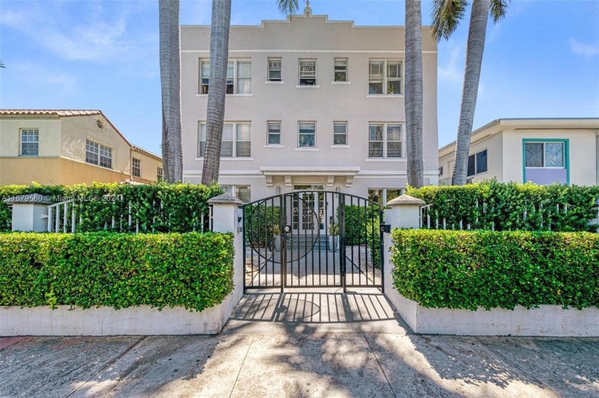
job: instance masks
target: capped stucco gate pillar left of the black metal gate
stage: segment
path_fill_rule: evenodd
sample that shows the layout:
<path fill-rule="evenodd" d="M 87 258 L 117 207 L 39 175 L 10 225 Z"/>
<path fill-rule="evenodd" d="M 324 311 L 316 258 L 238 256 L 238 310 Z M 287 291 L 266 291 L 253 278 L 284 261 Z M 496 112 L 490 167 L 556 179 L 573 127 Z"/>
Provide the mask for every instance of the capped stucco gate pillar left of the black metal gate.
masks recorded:
<path fill-rule="evenodd" d="M 230 232 L 233 234 L 235 256 L 233 257 L 233 307 L 243 295 L 243 278 L 245 278 L 245 264 L 243 263 L 243 229 L 240 219 L 240 205 L 242 201 L 230 194 L 222 194 L 208 199 L 208 204 L 213 206 L 213 231 Z M 231 308 L 232 310 L 232 308 Z"/>

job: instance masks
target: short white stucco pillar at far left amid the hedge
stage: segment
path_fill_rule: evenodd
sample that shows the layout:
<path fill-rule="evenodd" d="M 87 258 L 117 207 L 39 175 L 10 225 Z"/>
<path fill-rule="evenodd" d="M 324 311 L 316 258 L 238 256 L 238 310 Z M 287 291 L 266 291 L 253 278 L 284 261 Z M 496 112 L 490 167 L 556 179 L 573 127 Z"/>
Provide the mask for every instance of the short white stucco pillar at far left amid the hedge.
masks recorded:
<path fill-rule="evenodd" d="M 50 197 L 42 194 L 19 195 L 4 200 L 12 205 L 12 230 L 43 232 L 48 230 L 48 205 Z"/>

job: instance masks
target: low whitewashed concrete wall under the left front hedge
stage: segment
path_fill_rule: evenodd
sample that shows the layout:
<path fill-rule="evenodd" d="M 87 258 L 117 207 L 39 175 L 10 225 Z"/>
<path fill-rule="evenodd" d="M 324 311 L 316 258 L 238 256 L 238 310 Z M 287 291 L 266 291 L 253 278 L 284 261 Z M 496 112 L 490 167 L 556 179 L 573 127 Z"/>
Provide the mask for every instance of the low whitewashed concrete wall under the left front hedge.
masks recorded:
<path fill-rule="evenodd" d="M 241 289 L 239 289 L 241 290 Z M 239 298 L 235 293 L 213 308 L 190 312 L 182 307 L 0 308 L 1 336 L 214 335 L 227 322 Z"/>

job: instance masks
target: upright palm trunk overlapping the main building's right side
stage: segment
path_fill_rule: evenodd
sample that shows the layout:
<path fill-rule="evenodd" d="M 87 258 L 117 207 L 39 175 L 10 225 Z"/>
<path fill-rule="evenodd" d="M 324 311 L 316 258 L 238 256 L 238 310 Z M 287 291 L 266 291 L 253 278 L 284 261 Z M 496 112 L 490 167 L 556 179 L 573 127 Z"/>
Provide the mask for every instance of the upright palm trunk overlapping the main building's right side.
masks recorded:
<path fill-rule="evenodd" d="M 422 152 L 422 15 L 420 0 L 406 0 L 406 150 L 408 184 L 424 185 Z"/>

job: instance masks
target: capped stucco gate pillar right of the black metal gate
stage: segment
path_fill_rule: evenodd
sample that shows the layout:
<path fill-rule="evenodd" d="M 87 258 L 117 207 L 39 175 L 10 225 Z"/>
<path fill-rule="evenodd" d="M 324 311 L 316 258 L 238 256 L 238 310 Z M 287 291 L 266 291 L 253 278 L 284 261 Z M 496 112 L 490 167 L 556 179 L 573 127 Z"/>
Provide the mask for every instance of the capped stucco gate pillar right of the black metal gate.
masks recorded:
<path fill-rule="evenodd" d="M 420 209 L 426 203 L 418 198 L 411 197 L 409 195 L 401 195 L 395 199 L 388 201 L 386 206 L 390 209 L 385 210 L 385 224 L 391 226 L 391 230 L 396 228 L 412 228 L 419 229 L 421 226 L 420 222 Z M 397 290 L 393 287 L 393 278 L 391 278 L 391 272 L 393 271 L 393 263 L 391 263 L 391 236 L 389 233 L 384 233 L 384 293 L 389 301 L 395 306 L 397 310 L 400 310 L 399 305 L 401 302 L 401 296 L 397 293 Z"/>

